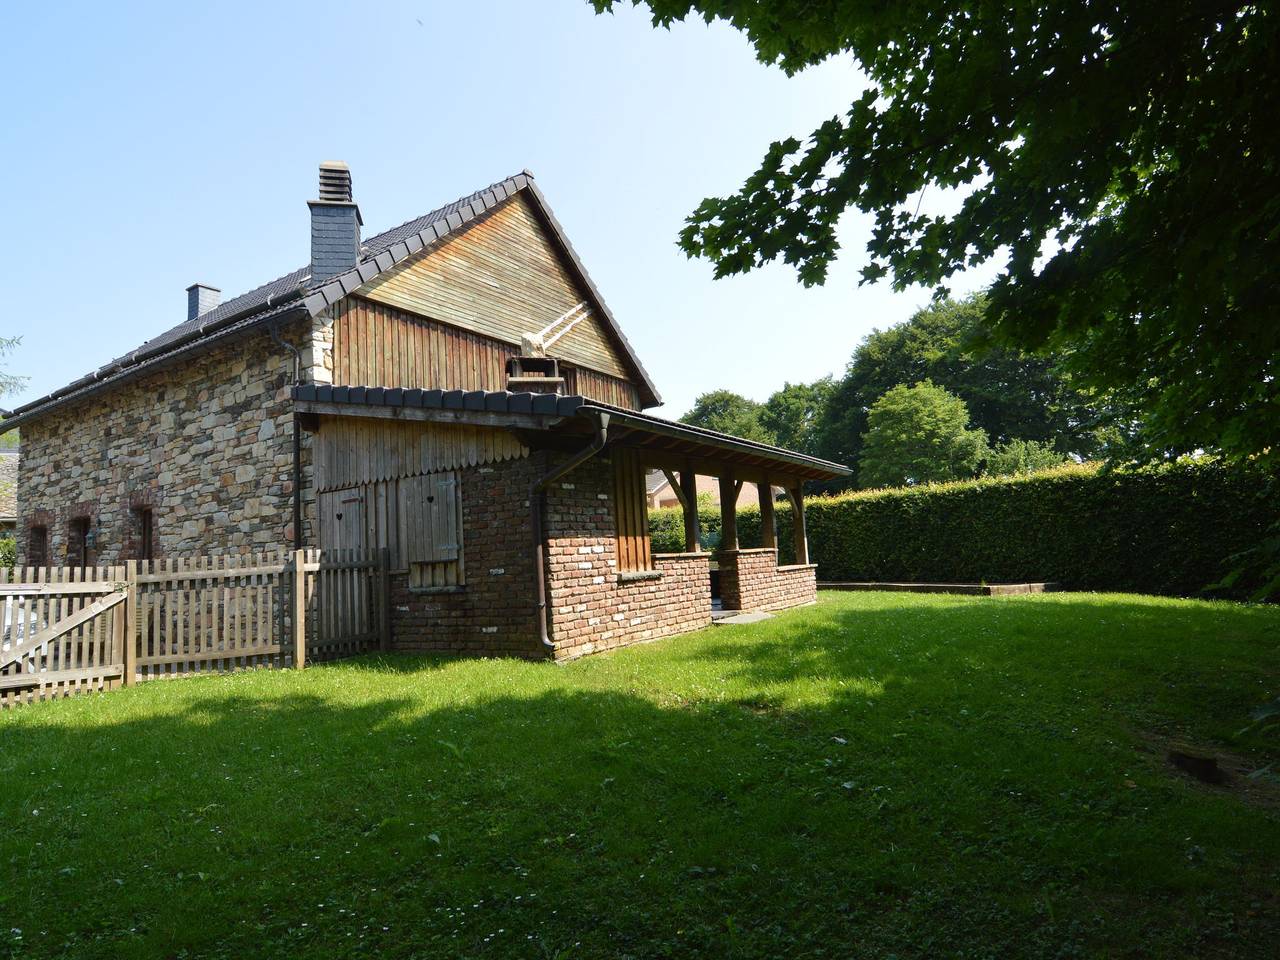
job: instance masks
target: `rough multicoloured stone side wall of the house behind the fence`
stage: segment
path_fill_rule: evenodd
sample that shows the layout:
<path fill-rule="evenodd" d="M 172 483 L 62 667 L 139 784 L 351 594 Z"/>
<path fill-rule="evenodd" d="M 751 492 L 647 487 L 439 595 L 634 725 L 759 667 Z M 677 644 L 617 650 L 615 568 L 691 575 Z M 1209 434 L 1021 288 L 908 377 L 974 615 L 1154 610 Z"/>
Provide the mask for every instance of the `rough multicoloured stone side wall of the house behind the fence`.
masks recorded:
<path fill-rule="evenodd" d="M 307 346 L 310 321 L 283 333 Z M 292 548 L 292 380 L 293 355 L 253 333 L 23 425 L 19 557 L 42 524 L 49 562 L 67 562 L 86 517 L 91 563 L 138 557 L 142 509 L 155 557 Z M 302 458 L 308 477 L 306 434 Z M 305 488 L 308 543 L 312 516 Z"/>

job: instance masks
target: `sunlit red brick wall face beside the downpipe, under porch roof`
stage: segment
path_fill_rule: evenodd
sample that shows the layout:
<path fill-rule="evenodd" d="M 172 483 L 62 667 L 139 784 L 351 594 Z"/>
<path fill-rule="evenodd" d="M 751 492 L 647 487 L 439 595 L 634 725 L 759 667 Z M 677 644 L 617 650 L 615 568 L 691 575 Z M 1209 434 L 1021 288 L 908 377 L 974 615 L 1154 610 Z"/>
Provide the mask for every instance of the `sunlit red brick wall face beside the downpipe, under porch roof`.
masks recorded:
<path fill-rule="evenodd" d="M 653 571 L 620 573 L 616 531 L 605 457 L 588 461 L 548 492 L 548 607 L 557 659 L 710 623 L 708 554 L 658 554 Z"/>

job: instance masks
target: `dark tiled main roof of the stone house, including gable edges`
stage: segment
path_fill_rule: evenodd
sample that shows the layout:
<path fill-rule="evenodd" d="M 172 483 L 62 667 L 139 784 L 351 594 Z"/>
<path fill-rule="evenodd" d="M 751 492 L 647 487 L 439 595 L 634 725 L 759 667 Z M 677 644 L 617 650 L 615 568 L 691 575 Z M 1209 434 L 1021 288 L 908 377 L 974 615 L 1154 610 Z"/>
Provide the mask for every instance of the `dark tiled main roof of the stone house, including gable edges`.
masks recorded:
<path fill-rule="evenodd" d="M 109 385 L 150 371 L 179 356 L 206 348 L 225 335 L 257 326 L 270 320 L 280 320 L 287 314 L 302 312 L 303 310 L 311 316 L 316 316 L 320 311 L 337 303 L 344 296 L 355 292 L 379 274 L 390 270 L 396 264 L 413 256 L 424 247 L 461 232 L 476 218 L 521 191 L 532 201 L 534 207 L 547 223 L 553 241 L 559 246 L 564 259 L 577 274 L 577 279 L 595 302 L 605 330 L 614 338 L 623 358 L 636 374 L 641 398 L 648 401 L 645 406 L 660 403 L 662 398 L 658 394 L 657 387 L 636 356 L 635 349 L 622 334 L 622 329 L 605 305 L 600 292 L 588 275 L 586 268 L 564 236 L 564 230 L 548 206 L 543 192 L 534 183 L 534 175 L 529 170 L 524 170 L 504 180 L 460 197 L 452 204 L 445 204 L 429 214 L 407 220 L 399 227 L 393 227 L 389 230 L 365 239 L 361 243 L 361 260 L 356 264 L 356 268 L 340 276 L 332 278 L 324 284 L 312 284 L 310 282 L 310 268 L 302 266 L 248 293 L 242 293 L 224 303 L 219 303 L 195 320 L 178 324 L 159 337 L 151 338 L 137 349 L 101 366 L 92 374 L 15 408 L 10 417 L 0 421 L 0 433 L 12 430 L 23 421 L 33 419 L 36 415 L 47 413 L 55 406 L 96 393 Z"/>

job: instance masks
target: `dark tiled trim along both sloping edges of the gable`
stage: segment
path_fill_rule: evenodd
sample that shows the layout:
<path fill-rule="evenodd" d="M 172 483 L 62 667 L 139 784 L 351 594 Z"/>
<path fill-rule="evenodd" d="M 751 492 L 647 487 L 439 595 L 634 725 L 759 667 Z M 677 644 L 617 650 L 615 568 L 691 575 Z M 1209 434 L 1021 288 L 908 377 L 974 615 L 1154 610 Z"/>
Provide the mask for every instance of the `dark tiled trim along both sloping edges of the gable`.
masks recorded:
<path fill-rule="evenodd" d="M 623 357 L 631 365 L 632 370 L 635 370 L 635 372 L 640 376 L 641 394 L 644 401 L 646 401 L 644 406 L 653 407 L 662 403 L 662 396 L 658 393 L 658 388 L 654 384 L 653 378 L 649 376 L 649 371 L 644 369 L 644 364 L 641 364 L 640 357 L 636 356 L 635 348 L 631 346 L 630 340 L 627 340 L 626 335 L 623 335 L 617 319 L 613 316 L 613 312 L 604 302 L 604 297 L 600 296 L 600 291 L 595 287 L 595 283 L 586 273 L 586 268 L 582 265 L 581 259 L 579 259 L 573 246 L 568 242 L 568 237 L 564 236 L 564 229 L 559 225 L 559 220 L 557 220 L 556 214 L 552 212 L 550 205 L 547 202 L 547 197 L 543 196 L 538 184 L 534 183 L 534 175 L 529 173 L 529 170 L 518 173 L 515 177 L 508 177 L 500 183 L 493 184 L 474 197 L 468 204 L 465 204 L 461 209 L 452 210 L 447 215 L 442 215 L 439 219 L 428 223 L 417 233 L 411 233 L 401 241 L 393 243 L 389 248 L 378 253 L 378 256 L 362 260 L 347 273 L 334 276 L 326 284 L 314 291 L 305 298 L 303 302 L 306 303 L 307 310 L 311 312 L 311 316 L 316 316 L 323 310 L 332 307 L 334 303 L 353 293 L 364 284 L 387 273 L 397 264 L 408 260 L 424 247 L 429 247 L 452 233 L 461 233 L 472 220 L 479 216 L 484 216 L 484 214 L 489 210 L 493 210 L 520 191 L 526 191 L 534 201 L 534 207 L 549 228 L 556 244 L 570 261 L 570 265 L 577 274 L 579 280 L 584 287 L 586 287 L 586 292 L 594 301 L 596 311 L 604 319 L 604 324 L 608 328 L 609 334 L 621 348 Z"/>

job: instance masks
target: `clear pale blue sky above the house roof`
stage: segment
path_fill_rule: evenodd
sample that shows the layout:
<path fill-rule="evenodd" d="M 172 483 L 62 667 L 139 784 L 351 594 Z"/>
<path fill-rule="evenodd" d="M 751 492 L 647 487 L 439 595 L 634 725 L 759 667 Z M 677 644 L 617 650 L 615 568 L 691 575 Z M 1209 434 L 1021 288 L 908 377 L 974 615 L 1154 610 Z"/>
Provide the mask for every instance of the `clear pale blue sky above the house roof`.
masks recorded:
<path fill-rule="evenodd" d="M 840 372 L 928 301 L 858 287 L 858 216 L 823 288 L 782 265 L 713 280 L 676 247 L 704 196 L 863 82 L 840 61 L 788 79 L 724 26 L 585 0 L 259 0 L 22 4 L 5 33 L 0 334 L 31 378 L 8 407 L 180 323 L 193 282 L 229 298 L 306 264 L 321 160 L 351 165 L 366 236 L 532 170 L 672 417 L 708 389 Z"/>

